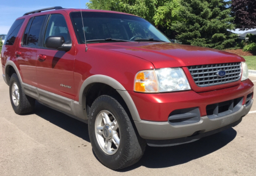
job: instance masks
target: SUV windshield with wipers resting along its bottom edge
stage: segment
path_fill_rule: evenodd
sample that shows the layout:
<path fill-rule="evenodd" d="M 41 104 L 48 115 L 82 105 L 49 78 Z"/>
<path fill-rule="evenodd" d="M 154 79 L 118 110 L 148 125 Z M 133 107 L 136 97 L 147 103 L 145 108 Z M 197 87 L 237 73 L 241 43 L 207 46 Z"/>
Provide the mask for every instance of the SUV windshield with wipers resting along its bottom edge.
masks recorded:
<path fill-rule="evenodd" d="M 152 24 L 136 16 L 103 12 L 82 12 L 82 14 L 83 22 L 80 12 L 70 13 L 79 44 L 85 43 L 84 31 L 88 43 L 121 41 L 170 42 Z"/>

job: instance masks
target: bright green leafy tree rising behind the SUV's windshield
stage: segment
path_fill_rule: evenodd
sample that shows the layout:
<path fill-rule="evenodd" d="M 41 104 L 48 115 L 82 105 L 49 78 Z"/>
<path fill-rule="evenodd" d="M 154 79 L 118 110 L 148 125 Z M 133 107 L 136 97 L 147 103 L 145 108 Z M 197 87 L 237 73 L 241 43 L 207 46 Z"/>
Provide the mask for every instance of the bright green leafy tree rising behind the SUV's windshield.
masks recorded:
<path fill-rule="evenodd" d="M 140 16 L 172 37 L 171 24 L 180 21 L 179 0 L 90 0 L 87 8 L 121 11 Z"/>

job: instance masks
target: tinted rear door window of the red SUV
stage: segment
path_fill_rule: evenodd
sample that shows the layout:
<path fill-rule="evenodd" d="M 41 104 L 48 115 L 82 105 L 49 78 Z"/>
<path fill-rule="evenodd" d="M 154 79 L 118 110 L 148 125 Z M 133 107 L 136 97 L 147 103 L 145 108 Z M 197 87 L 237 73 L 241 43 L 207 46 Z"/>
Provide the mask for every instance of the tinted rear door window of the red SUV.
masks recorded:
<path fill-rule="evenodd" d="M 38 39 L 45 15 L 35 16 L 29 20 L 22 39 L 22 45 L 38 47 Z"/>

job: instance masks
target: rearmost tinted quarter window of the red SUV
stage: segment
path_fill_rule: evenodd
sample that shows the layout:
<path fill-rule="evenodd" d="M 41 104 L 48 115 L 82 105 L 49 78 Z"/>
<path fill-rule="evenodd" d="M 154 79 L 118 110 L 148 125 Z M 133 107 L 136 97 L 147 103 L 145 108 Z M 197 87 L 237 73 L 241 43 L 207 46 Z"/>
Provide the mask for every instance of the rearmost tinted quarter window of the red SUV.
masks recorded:
<path fill-rule="evenodd" d="M 13 45 L 15 42 L 15 39 L 17 37 L 17 34 L 19 32 L 19 29 L 21 28 L 21 25 L 23 24 L 24 19 L 18 19 L 16 20 L 10 30 L 7 33 L 7 39 L 5 40 L 5 45 Z"/>

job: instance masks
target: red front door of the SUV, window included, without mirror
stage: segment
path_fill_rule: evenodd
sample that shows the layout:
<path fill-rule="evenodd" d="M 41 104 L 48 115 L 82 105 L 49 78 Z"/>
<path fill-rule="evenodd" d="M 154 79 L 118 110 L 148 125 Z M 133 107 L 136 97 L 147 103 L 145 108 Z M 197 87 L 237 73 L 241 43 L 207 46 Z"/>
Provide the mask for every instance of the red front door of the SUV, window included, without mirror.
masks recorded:
<path fill-rule="evenodd" d="M 71 26 L 66 12 L 54 13 L 49 16 L 45 26 L 43 46 L 38 50 L 36 76 L 38 87 L 42 90 L 74 99 L 73 67 L 75 60 L 75 47 L 69 51 L 58 51 L 46 48 L 45 39 L 49 36 L 63 36 L 65 42 L 72 41 L 69 31 Z M 70 37 L 71 36 L 71 37 Z"/>

